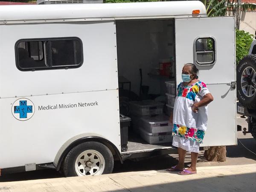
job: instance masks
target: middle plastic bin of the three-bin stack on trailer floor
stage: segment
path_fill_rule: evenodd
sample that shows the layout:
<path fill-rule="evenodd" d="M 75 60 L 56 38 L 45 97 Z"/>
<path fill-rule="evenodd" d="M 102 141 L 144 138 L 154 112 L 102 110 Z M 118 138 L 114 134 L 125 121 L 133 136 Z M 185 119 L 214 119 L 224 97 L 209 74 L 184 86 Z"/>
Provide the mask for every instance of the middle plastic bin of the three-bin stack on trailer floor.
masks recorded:
<path fill-rule="evenodd" d="M 143 116 L 141 118 L 141 128 L 148 133 L 164 133 L 172 131 L 172 123 L 169 122 L 169 116 Z"/>

